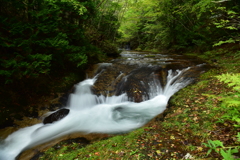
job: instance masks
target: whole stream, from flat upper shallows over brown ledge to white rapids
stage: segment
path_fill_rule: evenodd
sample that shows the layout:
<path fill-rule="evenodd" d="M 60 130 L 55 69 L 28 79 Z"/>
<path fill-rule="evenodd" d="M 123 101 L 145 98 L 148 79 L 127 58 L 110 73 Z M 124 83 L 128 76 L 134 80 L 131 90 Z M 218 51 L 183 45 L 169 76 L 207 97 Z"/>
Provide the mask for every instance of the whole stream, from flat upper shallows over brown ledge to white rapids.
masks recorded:
<path fill-rule="evenodd" d="M 93 77 L 75 85 L 69 114 L 50 124 L 35 124 L 9 135 L 0 160 L 71 133 L 126 133 L 164 112 L 168 100 L 204 71 L 194 58 L 125 51 L 122 58 L 99 64 Z"/>

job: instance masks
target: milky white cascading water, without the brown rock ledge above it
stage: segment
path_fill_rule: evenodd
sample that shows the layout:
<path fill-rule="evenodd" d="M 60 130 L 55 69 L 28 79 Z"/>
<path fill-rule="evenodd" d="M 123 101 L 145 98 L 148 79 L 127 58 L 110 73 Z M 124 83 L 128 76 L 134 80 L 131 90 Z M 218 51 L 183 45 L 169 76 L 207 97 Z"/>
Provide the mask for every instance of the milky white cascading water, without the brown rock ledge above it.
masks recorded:
<path fill-rule="evenodd" d="M 182 79 L 183 72 L 168 72 L 167 83 L 161 87 L 157 79 L 149 82 L 149 100 L 141 103 L 128 101 L 126 94 L 104 97 L 91 93 L 90 87 L 96 78 L 87 79 L 76 85 L 70 96 L 69 114 L 52 124 L 36 124 L 9 135 L 0 146 L 0 160 L 14 160 L 23 150 L 74 132 L 123 133 L 146 124 L 162 113 L 169 98 L 190 83 Z"/>

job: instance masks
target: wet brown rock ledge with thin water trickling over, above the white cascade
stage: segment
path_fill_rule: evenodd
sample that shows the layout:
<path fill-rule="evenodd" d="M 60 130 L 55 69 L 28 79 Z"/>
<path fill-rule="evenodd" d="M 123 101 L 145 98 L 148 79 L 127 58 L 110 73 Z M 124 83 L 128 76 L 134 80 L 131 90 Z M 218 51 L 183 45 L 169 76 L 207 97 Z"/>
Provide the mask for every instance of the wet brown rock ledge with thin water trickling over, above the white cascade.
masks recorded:
<path fill-rule="evenodd" d="M 122 58 L 112 62 L 101 64 L 98 68 L 96 74 L 100 74 L 91 88 L 92 93 L 104 96 L 118 96 L 126 93 L 129 101 L 137 103 L 150 98 L 149 91 L 152 89 L 153 79 L 156 79 L 157 83 L 159 81 L 159 85 L 164 88 L 170 70 L 178 74 L 177 70 L 191 66 L 188 72 L 181 73 L 180 78 L 172 82 L 178 83 L 183 79 L 192 81 L 198 77 L 203 71 L 202 67 L 205 66 L 205 63 L 196 57 L 145 52 L 124 52 Z"/>

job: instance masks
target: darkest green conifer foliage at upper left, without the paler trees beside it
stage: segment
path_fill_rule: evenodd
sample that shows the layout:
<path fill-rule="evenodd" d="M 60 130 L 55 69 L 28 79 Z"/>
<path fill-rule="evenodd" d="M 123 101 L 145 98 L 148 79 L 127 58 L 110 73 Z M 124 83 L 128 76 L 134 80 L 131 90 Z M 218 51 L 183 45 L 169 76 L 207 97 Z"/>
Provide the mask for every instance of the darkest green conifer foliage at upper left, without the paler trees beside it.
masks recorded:
<path fill-rule="evenodd" d="M 0 75 L 5 83 L 81 67 L 92 52 L 102 54 L 91 46 L 83 27 L 96 9 L 92 1 L 2 0 L 1 4 Z"/>

